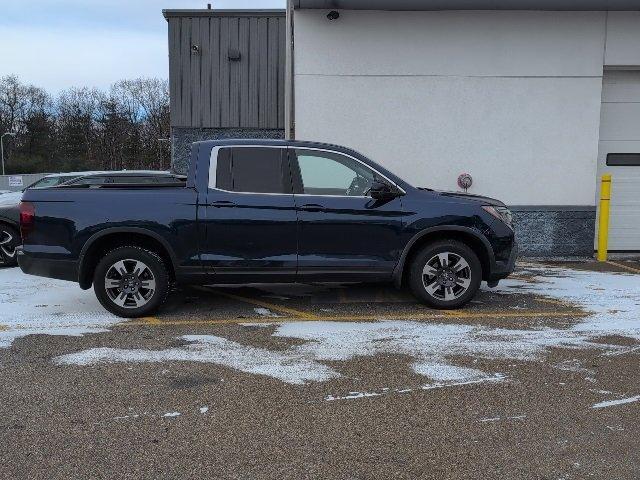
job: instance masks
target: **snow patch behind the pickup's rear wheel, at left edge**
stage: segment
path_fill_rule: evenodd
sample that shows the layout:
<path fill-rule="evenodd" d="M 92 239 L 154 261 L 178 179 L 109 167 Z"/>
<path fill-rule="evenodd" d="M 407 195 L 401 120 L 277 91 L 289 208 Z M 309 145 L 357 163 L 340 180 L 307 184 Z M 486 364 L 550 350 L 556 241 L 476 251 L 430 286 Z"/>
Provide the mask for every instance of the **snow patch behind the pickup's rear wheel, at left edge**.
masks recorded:
<path fill-rule="evenodd" d="M 0 269 L 0 348 L 31 334 L 80 336 L 106 332 L 122 319 L 76 283 Z"/>

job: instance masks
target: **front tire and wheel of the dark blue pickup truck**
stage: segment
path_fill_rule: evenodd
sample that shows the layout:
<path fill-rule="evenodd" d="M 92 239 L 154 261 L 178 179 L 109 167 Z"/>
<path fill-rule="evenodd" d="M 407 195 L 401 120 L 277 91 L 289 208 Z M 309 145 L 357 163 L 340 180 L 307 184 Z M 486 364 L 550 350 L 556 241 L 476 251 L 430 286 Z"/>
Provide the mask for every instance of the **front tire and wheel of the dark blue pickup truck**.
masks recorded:
<path fill-rule="evenodd" d="M 439 255 L 446 255 L 447 260 L 442 262 L 445 263 L 444 268 Z M 413 294 L 422 303 L 439 309 L 465 305 L 482 282 L 482 265 L 478 256 L 457 240 L 440 240 L 427 245 L 413 258 L 409 267 L 409 286 Z M 457 268 L 461 269 L 456 272 Z"/>

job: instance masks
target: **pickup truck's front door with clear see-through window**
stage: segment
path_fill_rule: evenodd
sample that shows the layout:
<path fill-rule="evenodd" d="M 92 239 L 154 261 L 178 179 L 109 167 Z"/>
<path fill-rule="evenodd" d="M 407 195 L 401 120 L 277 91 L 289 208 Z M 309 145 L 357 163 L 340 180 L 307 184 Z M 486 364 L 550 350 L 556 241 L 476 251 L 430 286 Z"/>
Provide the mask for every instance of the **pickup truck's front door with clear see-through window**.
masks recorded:
<path fill-rule="evenodd" d="M 368 193 L 380 174 L 325 150 L 290 149 L 299 281 L 388 280 L 402 250 L 402 197 Z"/>

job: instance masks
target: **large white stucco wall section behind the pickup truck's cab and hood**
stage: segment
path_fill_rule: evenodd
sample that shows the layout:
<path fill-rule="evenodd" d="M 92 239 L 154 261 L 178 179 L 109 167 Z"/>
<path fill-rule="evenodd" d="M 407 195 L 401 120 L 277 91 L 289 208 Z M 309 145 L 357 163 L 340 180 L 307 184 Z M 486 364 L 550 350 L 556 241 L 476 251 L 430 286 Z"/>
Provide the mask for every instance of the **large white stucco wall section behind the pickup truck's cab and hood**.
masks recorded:
<path fill-rule="evenodd" d="M 605 12 L 325 15 L 295 12 L 296 138 L 415 185 L 594 204 Z"/>

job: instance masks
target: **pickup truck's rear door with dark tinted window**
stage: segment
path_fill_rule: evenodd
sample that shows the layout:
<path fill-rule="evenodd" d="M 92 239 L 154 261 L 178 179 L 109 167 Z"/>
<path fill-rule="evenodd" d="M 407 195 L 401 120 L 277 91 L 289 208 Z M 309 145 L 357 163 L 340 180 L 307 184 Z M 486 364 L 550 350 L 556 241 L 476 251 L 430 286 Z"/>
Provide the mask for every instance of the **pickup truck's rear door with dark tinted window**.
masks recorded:
<path fill-rule="evenodd" d="M 203 264 L 216 282 L 295 279 L 297 217 L 286 148 L 214 148 Z"/>

